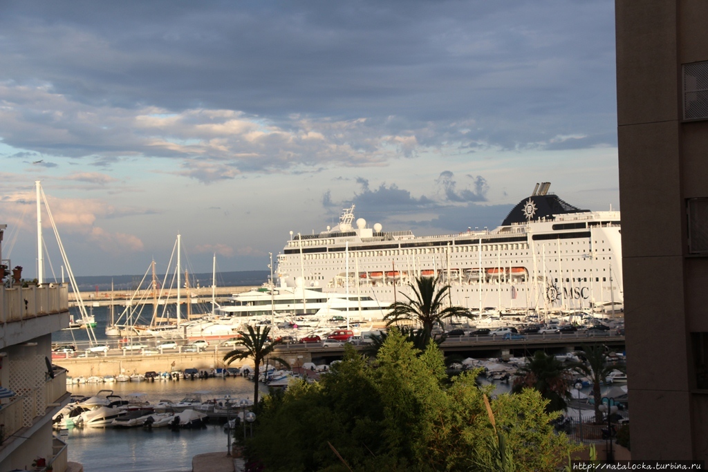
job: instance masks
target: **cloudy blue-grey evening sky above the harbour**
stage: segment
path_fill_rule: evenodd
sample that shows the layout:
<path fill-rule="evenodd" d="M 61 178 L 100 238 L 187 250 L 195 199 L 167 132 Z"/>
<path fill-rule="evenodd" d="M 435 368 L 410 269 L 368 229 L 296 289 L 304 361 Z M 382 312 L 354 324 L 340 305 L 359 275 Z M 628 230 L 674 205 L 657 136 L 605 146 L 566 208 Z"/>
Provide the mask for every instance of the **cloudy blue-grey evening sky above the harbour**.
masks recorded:
<path fill-rule="evenodd" d="M 350 205 L 492 228 L 546 181 L 619 209 L 612 0 L 4 0 L 0 64 L 2 258 L 25 277 L 35 180 L 75 275 L 169 270 L 177 234 L 193 272 L 267 270 Z"/>

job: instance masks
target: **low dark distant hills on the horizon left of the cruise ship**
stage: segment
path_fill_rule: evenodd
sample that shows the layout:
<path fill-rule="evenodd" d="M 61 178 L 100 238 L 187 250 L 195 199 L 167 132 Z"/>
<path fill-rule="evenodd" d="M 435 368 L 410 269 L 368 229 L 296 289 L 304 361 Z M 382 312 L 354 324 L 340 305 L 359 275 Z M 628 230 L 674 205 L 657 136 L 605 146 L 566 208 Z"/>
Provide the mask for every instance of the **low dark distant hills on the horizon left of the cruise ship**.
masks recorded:
<path fill-rule="evenodd" d="M 172 275 L 166 284 L 171 283 Z M 239 272 L 220 272 L 217 274 L 217 285 L 219 287 L 242 287 L 244 285 L 261 285 L 268 282 L 270 272 L 268 270 L 241 270 Z M 165 278 L 164 274 L 157 275 L 157 280 L 161 283 Z M 110 290 L 110 284 L 116 290 L 135 290 L 142 280 L 142 275 L 98 275 L 95 277 L 76 277 L 76 284 L 79 284 L 80 292 L 91 292 L 96 290 Z M 211 273 L 190 274 L 190 287 L 210 287 L 212 284 Z M 52 281 L 49 281 L 52 282 Z M 143 282 L 142 287 L 148 288 L 152 280 Z M 182 280 L 184 284 L 184 280 Z"/>

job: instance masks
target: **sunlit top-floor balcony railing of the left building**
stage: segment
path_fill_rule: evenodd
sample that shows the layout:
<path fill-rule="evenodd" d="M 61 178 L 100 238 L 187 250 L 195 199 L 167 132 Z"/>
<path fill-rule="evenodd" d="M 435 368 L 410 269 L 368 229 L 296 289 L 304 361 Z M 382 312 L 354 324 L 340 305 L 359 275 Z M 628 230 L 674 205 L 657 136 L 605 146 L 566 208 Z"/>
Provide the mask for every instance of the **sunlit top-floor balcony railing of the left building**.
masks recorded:
<path fill-rule="evenodd" d="M 69 311 L 69 289 L 66 285 L 0 287 L 0 323 L 65 311 Z"/>

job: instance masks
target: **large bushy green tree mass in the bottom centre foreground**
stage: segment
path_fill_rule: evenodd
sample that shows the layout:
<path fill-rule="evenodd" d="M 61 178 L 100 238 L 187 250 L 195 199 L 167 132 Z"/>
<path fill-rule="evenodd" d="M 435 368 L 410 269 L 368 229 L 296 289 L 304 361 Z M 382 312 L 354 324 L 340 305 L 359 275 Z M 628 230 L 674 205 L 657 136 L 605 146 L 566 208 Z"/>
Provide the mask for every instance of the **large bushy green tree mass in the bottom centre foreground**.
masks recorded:
<path fill-rule="evenodd" d="M 276 472 L 554 471 L 575 447 L 554 434 L 547 401 L 529 389 L 499 396 L 493 425 L 478 373 L 450 381 L 435 343 L 421 352 L 392 330 L 374 361 L 347 346 L 319 384 L 265 396 L 249 454 Z"/>

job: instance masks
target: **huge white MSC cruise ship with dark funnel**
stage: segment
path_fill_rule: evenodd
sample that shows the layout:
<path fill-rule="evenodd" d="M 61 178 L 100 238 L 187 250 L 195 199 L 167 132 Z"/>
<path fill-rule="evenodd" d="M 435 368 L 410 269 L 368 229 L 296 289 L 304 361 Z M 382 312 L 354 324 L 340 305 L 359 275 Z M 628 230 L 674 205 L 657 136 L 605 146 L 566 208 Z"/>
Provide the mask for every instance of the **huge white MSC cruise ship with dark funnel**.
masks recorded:
<path fill-rule="evenodd" d="M 440 277 L 450 304 L 480 315 L 620 311 L 619 212 L 578 209 L 549 188 L 536 184 L 496 229 L 439 236 L 370 227 L 352 205 L 319 234 L 291 231 L 275 284 L 391 303 L 416 277 Z"/>

